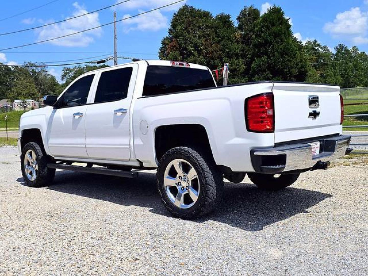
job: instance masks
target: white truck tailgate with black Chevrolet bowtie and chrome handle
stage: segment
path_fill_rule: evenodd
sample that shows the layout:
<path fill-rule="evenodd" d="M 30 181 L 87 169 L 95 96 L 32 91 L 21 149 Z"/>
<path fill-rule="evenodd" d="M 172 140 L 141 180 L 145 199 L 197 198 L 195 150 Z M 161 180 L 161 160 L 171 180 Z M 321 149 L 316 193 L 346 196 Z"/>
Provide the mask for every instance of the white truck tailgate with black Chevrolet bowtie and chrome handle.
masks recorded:
<path fill-rule="evenodd" d="M 275 143 L 342 133 L 338 86 L 275 82 L 272 92 Z M 318 97 L 319 106 L 310 96 Z"/>

